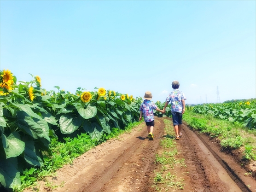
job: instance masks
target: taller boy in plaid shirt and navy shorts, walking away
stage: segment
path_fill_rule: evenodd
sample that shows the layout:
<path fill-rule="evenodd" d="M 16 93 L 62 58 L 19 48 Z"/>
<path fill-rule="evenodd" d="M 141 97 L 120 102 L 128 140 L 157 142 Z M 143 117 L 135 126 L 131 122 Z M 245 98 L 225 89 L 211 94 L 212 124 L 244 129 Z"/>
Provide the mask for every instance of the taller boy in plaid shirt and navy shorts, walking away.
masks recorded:
<path fill-rule="evenodd" d="M 186 97 L 184 93 L 179 90 L 180 83 L 179 81 L 172 82 L 173 91 L 169 93 L 166 98 L 166 103 L 163 107 L 163 111 L 171 102 L 171 111 L 172 111 L 172 118 L 173 118 L 173 126 L 176 133 L 176 140 L 179 140 L 181 137 L 181 124 L 182 124 L 182 114 L 185 112 L 185 100 Z"/>

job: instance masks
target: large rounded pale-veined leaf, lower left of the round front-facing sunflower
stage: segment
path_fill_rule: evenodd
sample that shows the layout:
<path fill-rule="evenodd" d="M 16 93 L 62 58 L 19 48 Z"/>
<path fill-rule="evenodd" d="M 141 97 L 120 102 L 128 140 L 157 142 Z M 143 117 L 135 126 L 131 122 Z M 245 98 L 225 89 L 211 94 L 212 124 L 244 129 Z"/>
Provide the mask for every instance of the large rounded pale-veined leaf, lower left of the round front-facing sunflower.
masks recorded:
<path fill-rule="evenodd" d="M 62 134 L 72 134 L 82 124 L 81 116 L 71 116 L 64 114 L 59 118 L 60 131 Z"/>

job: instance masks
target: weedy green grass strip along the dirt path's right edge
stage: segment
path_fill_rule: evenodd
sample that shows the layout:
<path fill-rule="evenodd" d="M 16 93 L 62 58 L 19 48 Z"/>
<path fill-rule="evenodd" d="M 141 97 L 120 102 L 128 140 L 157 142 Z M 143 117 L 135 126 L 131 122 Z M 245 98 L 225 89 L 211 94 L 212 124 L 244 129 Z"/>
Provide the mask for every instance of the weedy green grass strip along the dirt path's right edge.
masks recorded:
<path fill-rule="evenodd" d="M 256 129 L 250 130 L 241 123 L 221 120 L 210 114 L 201 115 L 189 110 L 183 115 L 183 120 L 199 132 L 217 138 L 223 150 L 244 147 L 243 158 L 256 161 Z"/>

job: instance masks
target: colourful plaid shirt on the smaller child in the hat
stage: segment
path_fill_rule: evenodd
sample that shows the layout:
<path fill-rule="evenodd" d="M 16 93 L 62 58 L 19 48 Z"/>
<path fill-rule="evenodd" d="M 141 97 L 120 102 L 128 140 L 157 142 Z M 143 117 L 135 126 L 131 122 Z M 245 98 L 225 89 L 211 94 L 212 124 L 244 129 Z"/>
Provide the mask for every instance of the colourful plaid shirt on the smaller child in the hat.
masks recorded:
<path fill-rule="evenodd" d="M 154 120 L 153 109 L 157 109 L 157 105 L 148 99 L 145 99 L 140 105 L 140 111 L 142 111 L 145 122 L 151 122 Z"/>

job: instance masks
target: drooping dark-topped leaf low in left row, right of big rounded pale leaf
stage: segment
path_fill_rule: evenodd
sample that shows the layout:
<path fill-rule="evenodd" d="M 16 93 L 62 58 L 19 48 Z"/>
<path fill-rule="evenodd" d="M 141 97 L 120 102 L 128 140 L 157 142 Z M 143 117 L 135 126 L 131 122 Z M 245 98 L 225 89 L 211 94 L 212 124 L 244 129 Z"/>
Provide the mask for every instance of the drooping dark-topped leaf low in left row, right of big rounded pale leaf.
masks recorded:
<path fill-rule="evenodd" d="M 90 122 L 86 120 L 83 124 L 84 130 L 90 135 L 92 139 L 100 140 L 103 134 L 103 128 L 100 126 L 99 122 Z"/>

